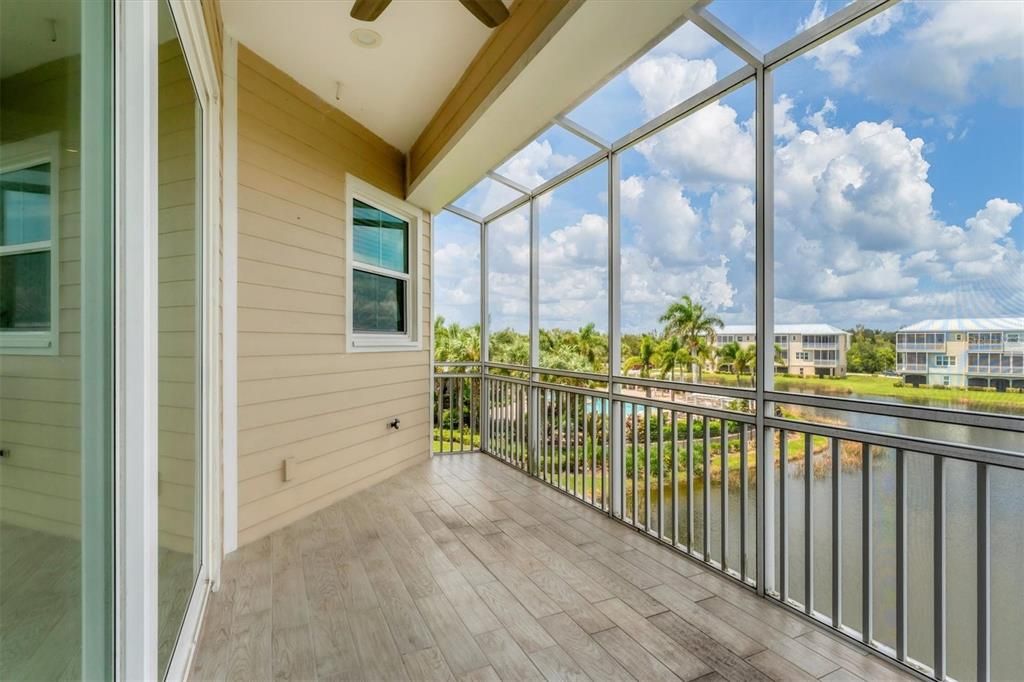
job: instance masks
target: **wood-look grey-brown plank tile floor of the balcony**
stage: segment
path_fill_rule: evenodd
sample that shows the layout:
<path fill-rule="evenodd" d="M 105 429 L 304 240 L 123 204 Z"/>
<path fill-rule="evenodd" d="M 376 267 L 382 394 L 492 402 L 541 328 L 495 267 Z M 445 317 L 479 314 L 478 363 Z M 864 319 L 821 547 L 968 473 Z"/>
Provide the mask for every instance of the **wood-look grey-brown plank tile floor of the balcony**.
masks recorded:
<path fill-rule="evenodd" d="M 891 680 L 884 660 L 484 455 L 225 562 L 200 680 Z"/>

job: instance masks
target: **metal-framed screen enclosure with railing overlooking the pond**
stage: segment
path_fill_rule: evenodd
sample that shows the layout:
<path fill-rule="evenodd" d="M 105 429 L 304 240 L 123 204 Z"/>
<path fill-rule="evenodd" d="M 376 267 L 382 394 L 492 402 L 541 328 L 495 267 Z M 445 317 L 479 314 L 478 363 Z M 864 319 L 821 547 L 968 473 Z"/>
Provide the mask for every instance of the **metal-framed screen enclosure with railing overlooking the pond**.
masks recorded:
<path fill-rule="evenodd" d="M 954 193 L 941 176 L 967 171 L 935 153 L 930 179 L 913 138 L 928 106 L 882 91 L 914 94 L 901 67 L 878 69 L 894 45 L 932 55 L 920 39 L 934 16 L 814 3 L 791 37 L 742 4 L 689 12 L 437 216 L 434 453 L 487 454 L 613 520 L 601 525 L 616 538 L 635 530 L 904 671 L 1014 679 L 1019 394 L 954 392 L 949 377 L 945 393 L 938 379 L 914 387 L 893 371 L 909 357 L 886 370 L 861 355 L 865 325 L 898 328 L 885 306 L 993 315 L 936 334 L 949 357 L 968 330 L 1022 323 L 1019 261 L 996 258 L 983 284 L 952 273 L 966 262 L 940 272 L 966 249 L 925 255 L 886 235 L 919 228 L 901 213 L 914 182 L 936 196 L 921 227 L 933 245 L 980 245 L 1001 201 L 996 182 L 966 227 L 943 223 Z M 989 9 L 965 20 L 994 20 Z M 975 113 L 1006 113 L 997 89 L 1019 87 L 996 81 L 971 86 Z M 883 156 L 908 156 L 880 161 L 889 143 Z M 980 160 L 982 146 L 956 154 Z M 1019 155 L 993 154 L 1019 169 Z M 933 374 L 956 363 L 922 356 Z M 815 372 L 837 365 L 841 377 Z"/>

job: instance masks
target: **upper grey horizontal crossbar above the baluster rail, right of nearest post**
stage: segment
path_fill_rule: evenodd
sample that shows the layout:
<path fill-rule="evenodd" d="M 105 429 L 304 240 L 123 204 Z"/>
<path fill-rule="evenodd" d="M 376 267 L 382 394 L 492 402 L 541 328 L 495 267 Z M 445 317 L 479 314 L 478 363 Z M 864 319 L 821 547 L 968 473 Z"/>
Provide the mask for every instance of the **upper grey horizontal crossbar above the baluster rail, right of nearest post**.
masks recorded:
<path fill-rule="evenodd" d="M 808 395 L 806 393 L 785 393 L 782 391 L 765 391 L 765 399 L 773 402 L 785 402 L 808 408 L 823 408 L 839 412 L 858 412 L 866 415 L 882 415 L 885 417 L 902 417 L 925 422 L 940 422 L 959 426 L 996 429 L 999 431 L 1016 431 L 1024 433 L 1024 418 L 1010 415 L 994 415 L 980 412 L 965 412 L 949 408 L 928 408 L 921 406 L 899 404 L 896 402 L 876 402 L 839 396 Z"/>

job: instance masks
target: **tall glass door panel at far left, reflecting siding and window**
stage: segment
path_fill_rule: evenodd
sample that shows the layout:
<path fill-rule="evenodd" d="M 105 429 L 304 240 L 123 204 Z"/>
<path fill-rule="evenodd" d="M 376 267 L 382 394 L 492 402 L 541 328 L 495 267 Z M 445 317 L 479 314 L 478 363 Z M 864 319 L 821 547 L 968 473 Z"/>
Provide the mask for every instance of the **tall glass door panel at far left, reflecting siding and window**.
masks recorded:
<path fill-rule="evenodd" d="M 113 13 L 0 2 L 0 680 L 116 677 Z"/>

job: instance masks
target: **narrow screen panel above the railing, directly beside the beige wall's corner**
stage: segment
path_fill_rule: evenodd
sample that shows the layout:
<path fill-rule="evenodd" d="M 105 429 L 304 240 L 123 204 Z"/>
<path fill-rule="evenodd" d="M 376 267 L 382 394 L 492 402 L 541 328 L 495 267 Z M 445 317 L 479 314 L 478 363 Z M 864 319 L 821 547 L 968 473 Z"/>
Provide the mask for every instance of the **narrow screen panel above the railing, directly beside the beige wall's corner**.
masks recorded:
<path fill-rule="evenodd" d="M 480 359 L 480 226 L 449 211 L 433 221 L 434 359 Z"/>

